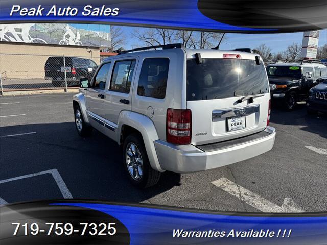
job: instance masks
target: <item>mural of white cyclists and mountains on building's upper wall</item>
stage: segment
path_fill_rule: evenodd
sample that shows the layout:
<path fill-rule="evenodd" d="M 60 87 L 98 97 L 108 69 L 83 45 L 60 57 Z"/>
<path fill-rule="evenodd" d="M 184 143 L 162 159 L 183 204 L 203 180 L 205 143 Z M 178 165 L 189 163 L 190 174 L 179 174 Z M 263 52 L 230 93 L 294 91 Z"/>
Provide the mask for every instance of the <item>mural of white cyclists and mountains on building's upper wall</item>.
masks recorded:
<path fill-rule="evenodd" d="M 0 24 L 0 41 L 110 46 L 110 26 L 100 24 Z"/>

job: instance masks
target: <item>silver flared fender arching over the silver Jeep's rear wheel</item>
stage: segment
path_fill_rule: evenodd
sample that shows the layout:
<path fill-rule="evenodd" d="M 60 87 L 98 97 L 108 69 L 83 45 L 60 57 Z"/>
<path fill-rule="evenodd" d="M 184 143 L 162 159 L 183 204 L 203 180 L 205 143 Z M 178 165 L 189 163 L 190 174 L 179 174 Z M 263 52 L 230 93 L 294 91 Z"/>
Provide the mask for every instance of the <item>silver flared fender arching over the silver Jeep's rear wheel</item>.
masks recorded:
<path fill-rule="evenodd" d="M 151 167 L 154 170 L 164 172 L 160 167 L 157 153 L 155 151 L 154 141 L 158 140 L 158 134 L 151 119 L 145 115 L 131 111 L 122 111 L 119 115 L 117 139 L 121 142 L 121 132 L 123 125 L 130 126 L 138 130 L 143 137 L 144 145 L 148 154 Z"/>

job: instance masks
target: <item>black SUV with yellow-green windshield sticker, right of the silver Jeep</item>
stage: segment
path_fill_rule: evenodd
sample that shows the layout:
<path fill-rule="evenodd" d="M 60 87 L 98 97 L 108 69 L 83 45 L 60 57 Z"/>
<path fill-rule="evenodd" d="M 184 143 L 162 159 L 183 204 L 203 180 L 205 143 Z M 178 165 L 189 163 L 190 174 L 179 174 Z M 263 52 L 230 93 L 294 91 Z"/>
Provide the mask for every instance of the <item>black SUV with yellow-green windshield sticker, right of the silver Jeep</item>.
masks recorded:
<path fill-rule="evenodd" d="M 309 90 L 327 74 L 327 67 L 318 61 L 275 63 L 267 66 L 270 93 L 273 102 L 293 110 L 296 102 L 307 101 Z"/>

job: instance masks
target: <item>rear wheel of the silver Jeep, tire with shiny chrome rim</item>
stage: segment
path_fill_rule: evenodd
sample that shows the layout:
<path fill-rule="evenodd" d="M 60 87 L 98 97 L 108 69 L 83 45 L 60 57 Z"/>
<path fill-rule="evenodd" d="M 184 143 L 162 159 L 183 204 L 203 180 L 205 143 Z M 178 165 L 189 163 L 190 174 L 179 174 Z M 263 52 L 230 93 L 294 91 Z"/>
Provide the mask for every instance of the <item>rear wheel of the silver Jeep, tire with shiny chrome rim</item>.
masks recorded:
<path fill-rule="evenodd" d="M 139 134 L 126 137 L 123 146 L 123 163 L 128 179 L 139 188 L 153 186 L 160 179 L 161 173 L 152 169 L 143 139 Z"/>

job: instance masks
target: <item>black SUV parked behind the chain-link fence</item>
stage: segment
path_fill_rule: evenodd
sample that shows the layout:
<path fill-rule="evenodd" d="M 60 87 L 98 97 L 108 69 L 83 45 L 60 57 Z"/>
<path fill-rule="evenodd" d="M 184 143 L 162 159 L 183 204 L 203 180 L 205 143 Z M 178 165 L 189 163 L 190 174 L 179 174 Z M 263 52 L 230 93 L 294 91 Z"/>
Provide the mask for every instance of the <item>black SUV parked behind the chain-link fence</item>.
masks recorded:
<path fill-rule="evenodd" d="M 45 80 L 51 80 L 54 87 L 65 86 L 65 67 L 67 86 L 79 86 L 81 78 L 91 79 L 98 65 L 89 59 L 77 57 L 51 56 L 46 60 L 44 71 Z"/>

